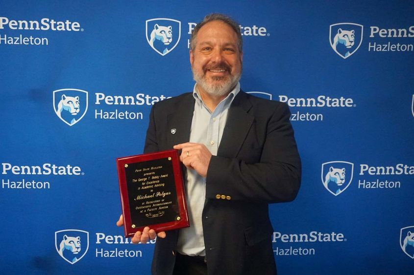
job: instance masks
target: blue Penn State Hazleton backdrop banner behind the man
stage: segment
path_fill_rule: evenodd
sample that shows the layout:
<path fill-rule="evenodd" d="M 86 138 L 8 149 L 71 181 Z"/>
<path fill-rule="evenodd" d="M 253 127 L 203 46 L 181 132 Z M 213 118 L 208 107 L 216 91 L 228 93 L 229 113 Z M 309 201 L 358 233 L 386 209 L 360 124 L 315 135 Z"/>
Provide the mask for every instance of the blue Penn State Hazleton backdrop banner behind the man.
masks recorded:
<path fill-rule="evenodd" d="M 240 23 L 242 89 L 292 112 L 303 176 L 269 206 L 278 272 L 413 274 L 414 2 L 353 0 L 2 1 L 1 274 L 150 273 L 154 241 L 115 225 L 115 159 L 192 91 L 212 12 Z"/>

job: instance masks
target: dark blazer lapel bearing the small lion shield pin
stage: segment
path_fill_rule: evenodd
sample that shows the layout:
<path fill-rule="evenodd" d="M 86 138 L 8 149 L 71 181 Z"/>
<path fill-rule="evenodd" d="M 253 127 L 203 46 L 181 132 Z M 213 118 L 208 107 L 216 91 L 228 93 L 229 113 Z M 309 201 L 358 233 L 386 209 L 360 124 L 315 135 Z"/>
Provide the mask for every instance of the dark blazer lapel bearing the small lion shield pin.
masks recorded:
<path fill-rule="evenodd" d="M 193 121 L 195 99 L 189 93 L 179 101 L 172 112 L 167 116 L 167 143 L 172 146 L 190 141 L 191 122 Z"/>

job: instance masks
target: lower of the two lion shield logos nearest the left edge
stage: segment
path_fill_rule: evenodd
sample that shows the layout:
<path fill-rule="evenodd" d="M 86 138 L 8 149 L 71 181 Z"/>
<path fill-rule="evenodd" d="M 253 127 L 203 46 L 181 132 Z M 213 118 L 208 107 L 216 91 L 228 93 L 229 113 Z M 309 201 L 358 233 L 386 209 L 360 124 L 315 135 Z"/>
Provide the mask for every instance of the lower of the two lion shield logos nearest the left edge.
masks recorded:
<path fill-rule="evenodd" d="M 74 264 L 88 252 L 89 232 L 77 229 L 56 231 L 55 247 L 65 261 Z"/>

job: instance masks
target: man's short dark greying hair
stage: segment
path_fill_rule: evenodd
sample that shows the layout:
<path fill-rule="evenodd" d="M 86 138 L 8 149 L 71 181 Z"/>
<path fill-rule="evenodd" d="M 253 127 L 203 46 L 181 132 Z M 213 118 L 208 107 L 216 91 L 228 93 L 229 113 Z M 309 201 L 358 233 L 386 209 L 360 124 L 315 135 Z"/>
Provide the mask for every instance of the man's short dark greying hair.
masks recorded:
<path fill-rule="evenodd" d="M 240 31 L 240 27 L 239 27 L 239 23 L 237 23 L 236 21 L 234 21 L 233 19 L 231 19 L 230 17 L 228 17 L 227 15 L 221 14 L 221 13 L 212 13 L 207 15 L 206 17 L 204 17 L 203 21 L 199 22 L 192 34 L 191 34 L 191 38 L 190 38 L 190 49 L 192 51 L 194 51 L 195 49 L 195 41 L 197 39 L 197 33 L 198 31 L 201 29 L 202 26 L 204 26 L 205 24 L 207 24 L 208 22 L 211 21 L 222 21 L 223 23 L 226 23 L 227 25 L 229 25 L 237 34 L 237 38 L 239 40 L 238 42 L 238 46 L 239 46 L 239 52 L 243 51 L 243 39 L 242 39 L 242 33 Z"/>

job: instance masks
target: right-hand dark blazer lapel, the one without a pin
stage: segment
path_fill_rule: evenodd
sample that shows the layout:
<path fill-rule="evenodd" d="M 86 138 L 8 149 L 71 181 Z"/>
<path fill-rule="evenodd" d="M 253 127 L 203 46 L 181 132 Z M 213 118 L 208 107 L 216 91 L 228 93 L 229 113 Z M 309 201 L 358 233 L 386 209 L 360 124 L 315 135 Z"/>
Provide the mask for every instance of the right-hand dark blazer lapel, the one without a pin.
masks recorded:
<path fill-rule="evenodd" d="M 217 155 L 229 158 L 237 156 L 254 120 L 248 113 L 251 106 L 247 95 L 241 90 L 229 108 Z"/>

